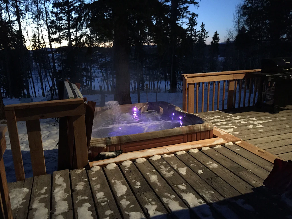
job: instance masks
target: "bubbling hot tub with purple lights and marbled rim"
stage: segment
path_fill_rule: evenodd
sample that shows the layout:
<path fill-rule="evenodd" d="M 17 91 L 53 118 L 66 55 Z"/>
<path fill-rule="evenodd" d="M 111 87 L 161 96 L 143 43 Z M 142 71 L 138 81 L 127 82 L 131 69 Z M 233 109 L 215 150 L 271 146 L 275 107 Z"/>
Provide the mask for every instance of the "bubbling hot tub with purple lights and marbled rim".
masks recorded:
<path fill-rule="evenodd" d="M 95 108 L 90 158 L 213 138 L 213 124 L 168 102 Z"/>

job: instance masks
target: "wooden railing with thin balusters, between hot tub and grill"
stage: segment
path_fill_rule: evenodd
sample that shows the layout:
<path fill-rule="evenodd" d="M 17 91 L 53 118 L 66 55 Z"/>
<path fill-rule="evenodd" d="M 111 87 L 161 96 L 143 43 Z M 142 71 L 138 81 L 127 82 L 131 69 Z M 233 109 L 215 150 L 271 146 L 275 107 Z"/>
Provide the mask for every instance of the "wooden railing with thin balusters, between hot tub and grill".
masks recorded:
<path fill-rule="evenodd" d="M 225 108 L 227 101 L 227 109 L 246 106 L 246 93 L 248 92 L 247 106 L 251 105 L 251 93 L 253 92 L 252 105 L 255 105 L 256 92 L 258 91 L 258 79 L 251 74 L 252 72 L 260 72 L 261 69 L 228 71 L 228 72 L 208 72 L 197 74 L 183 74 L 183 110 L 187 112 L 199 112 L 199 97 L 201 97 L 201 112 L 211 110 L 222 110 Z M 212 83 L 213 82 L 213 83 Z M 217 82 L 217 92 L 216 92 Z M 210 86 L 213 84 L 212 101 L 210 103 Z M 220 98 L 220 86 L 223 84 L 223 93 Z M 205 85 L 207 87 L 207 98 L 205 97 Z M 253 86 L 254 85 L 254 86 Z M 201 96 L 199 96 L 199 86 L 201 86 Z M 225 89 L 227 86 L 227 96 Z M 195 96 L 196 87 L 196 96 Z M 254 87 L 254 88 L 253 88 Z M 242 98 L 242 90 L 244 90 Z M 237 95 L 238 91 L 238 95 Z M 217 93 L 217 94 L 215 94 Z M 215 103 L 215 96 L 217 95 L 217 102 Z M 236 105 L 236 98 L 238 96 L 238 105 Z M 227 100 L 225 100 L 227 98 Z M 206 108 L 205 108 L 205 99 Z M 220 101 L 222 100 L 222 102 Z M 243 101 L 241 102 L 241 100 Z M 220 107 L 221 103 L 221 107 Z M 215 107 L 216 104 L 216 107 Z M 195 109 L 195 110 L 194 110 Z"/>

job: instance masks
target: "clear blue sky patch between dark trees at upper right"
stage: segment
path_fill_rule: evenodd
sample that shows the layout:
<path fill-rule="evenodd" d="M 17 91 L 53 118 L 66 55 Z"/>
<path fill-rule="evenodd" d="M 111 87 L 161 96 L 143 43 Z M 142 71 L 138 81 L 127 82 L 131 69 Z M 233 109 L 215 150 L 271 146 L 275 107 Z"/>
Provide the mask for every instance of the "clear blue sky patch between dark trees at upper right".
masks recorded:
<path fill-rule="evenodd" d="M 189 10 L 191 12 L 199 14 L 197 30 L 204 22 L 205 29 L 209 31 L 207 44 L 210 44 L 216 30 L 219 33 L 219 42 L 224 42 L 226 29 L 233 26 L 235 6 L 240 2 L 241 0 L 201 0 L 199 1 L 199 8 L 190 6 Z"/>

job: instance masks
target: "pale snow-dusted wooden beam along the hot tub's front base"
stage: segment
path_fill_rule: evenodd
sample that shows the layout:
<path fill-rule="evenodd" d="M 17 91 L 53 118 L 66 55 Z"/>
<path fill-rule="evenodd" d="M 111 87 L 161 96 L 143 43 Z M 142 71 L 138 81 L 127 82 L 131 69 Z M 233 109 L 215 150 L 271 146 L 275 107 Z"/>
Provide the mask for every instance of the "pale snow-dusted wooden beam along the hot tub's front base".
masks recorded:
<path fill-rule="evenodd" d="M 89 166 L 103 167 L 110 163 L 121 164 L 125 160 L 135 161 L 137 158 L 149 158 L 152 157 L 153 155 L 173 154 L 181 150 L 189 151 L 190 149 L 193 148 L 201 149 L 202 147 L 215 147 L 215 145 L 224 145 L 225 143 L 227 143 L 227 141 L 225 141 L 222 138 L 209 138 L 205 140 L 186 142 L 176 145 L 168 145 L 163 147 L 150 148 L 146 150 L 127 152 L 115 158 L 100 161 L 92 161 L 89 163 Z"/>

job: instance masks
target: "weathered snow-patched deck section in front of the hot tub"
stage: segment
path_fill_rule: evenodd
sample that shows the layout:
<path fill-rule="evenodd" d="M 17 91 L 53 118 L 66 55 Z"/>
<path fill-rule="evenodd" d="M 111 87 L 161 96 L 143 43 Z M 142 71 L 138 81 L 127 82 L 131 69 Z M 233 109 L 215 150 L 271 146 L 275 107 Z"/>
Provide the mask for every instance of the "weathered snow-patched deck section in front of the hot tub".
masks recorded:
<path fill-rule="evenodd" d="M 291 208 L 263 186 L 273 164 L 239 145 L 119 164 L 112 169 L 63 170 L 9 183 L 13 215 L 290 218 Z"/>

